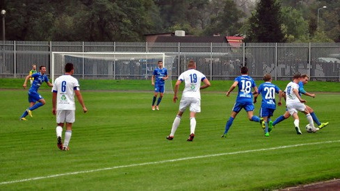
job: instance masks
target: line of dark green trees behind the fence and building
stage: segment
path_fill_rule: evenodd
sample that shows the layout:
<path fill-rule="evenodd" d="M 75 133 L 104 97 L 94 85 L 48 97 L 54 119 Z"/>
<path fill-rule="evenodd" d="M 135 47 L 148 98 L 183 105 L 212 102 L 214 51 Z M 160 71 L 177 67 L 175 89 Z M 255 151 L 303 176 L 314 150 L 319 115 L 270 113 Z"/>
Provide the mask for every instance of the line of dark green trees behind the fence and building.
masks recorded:
<path fill-rule="evenodd" d="M 0 2 L 6 40 L 144 42 L 148 33 L 182 30 L 244 35 L 246 42 L 340 42 L 340 1 L 332 0 Z"/>

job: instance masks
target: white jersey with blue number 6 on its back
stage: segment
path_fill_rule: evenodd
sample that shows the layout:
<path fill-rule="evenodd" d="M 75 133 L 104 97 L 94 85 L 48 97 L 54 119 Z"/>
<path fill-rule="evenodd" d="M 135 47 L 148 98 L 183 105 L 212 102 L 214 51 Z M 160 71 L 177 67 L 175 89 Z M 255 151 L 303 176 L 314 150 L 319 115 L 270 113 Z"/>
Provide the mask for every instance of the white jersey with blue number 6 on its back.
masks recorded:
<path fill-rule="evenodd" d="M 56 78 L 52 92 L 57 93 L 56 110 L 76 110 L 74 90 L 79 90 L 79 83 L 71 75 Z"/>

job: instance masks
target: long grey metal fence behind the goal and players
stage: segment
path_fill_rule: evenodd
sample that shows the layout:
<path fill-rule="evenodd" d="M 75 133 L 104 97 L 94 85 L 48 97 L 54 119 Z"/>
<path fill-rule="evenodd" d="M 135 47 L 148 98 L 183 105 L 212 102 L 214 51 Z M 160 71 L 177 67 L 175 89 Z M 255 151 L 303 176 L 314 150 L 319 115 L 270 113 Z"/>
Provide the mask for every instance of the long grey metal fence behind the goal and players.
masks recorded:
<path fill-rule="evenodd" d="M 33 63 L 46 65 L 47 73 L 51 72 L 52 51 L 164 52 L 176 56 L 173 78 L 184 72 L 188 60 L 193 59 L 209 80 L 232 80 L 239 75 L 241 66 L 247 66 L 255 79 L 269 73 L 275 80 L 289 80 L 300 72 L 309 74 L 312 81 L 340 81 L 340 43 L 243 43 L 232 47 L 227 43 L 1 41 L 1 78 L 22 78 Z M 100 77 L 93 74 L 93 78 Z"/>

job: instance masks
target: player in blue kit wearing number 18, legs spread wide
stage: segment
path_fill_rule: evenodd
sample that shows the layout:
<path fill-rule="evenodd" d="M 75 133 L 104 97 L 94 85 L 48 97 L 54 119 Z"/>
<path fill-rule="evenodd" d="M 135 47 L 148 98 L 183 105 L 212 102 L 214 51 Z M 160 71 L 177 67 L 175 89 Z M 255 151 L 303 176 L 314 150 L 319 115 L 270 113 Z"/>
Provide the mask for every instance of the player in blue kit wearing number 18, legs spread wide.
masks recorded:
<path fill-rule="evenodd" d="M 227 138 L 227 133 L 229 131 L 230 126 L 236 117 L 236 115 L 244 108 L 248 113 L 248 119 L 252 122 L 263 122 L 264 119 L 260 119 L 256 115 L 254 115 L 254 103 L 252 101 L 252 88 L 254 89 L 254 94 L 257 93 L 257 87 L 255 81 L 248 76 L 248 68 L 241 67 L 241 76 L 235 78 L 234 83 L 229 88 L 226 93 L 227 97 L 229 97 L 232 90 L 238 87 L 238 95 L 236 98 L 236 103 L 234 108 L 232 109 L 232 115 L 229 117 L 227 124 L 225 125 L 225 133 L 223 133 L 222 138 Z"/>

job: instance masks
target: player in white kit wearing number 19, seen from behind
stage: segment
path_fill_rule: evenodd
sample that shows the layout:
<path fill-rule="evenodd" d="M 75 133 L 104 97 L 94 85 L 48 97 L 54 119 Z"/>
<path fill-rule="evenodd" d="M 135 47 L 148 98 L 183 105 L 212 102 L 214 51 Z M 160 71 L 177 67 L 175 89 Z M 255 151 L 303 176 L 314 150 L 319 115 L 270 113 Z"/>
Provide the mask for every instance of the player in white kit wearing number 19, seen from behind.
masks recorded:
<path fill-rule="evenodd" d="M 179 90 L 179 85 L 184 81 L 185 88 L 183 90 L 181 101 L 179 103 L 179 111 L 175 120 L 172 124 L 171 133 L 168 135 L 167 139 L 172 140 L 174 138 L 175 132 L 179 123 L 181 122 L 181 116 L 183 115 L 186 108 L 189 107 L 190 110 L 190 135 L 187 141 L 193 141 L 195 137 L 195 128 L 196 128 L 196 113 L 201 112 L 201 93 L 200 90 L 204 88 L 208 88 L 210 86 L 210 82 L 202 74 L 201 72 L 196 70 L 196 63 L 194 60 L 190 60 L 188 63 L 188 70 L 183 72 L 179 77 L 175 85 L 175 94 L 173 101 L 176 103 L 177 101 L 177 92 Z M 201 86 L 201 81 L 204 85 Z"/>

